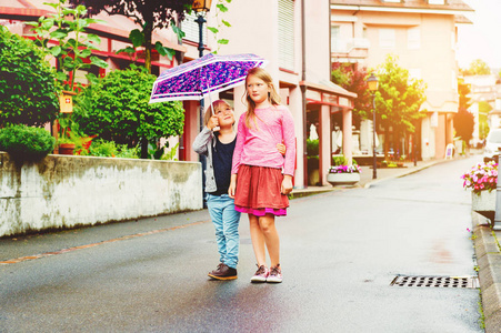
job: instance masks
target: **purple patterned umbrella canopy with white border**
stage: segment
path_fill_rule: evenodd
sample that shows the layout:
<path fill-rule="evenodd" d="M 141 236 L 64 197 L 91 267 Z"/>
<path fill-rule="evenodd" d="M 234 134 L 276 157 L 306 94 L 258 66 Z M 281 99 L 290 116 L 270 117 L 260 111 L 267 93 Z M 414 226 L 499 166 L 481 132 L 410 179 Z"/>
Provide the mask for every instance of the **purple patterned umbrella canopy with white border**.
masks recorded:
<path fill-rule="evenodd" d="M 267 61 L 255 54 L 216 56 L 202 58 L 163 71 L 154 81 L 150 103 L 179 100 L 201 100 L 246 81 L 247 73 Z"/>

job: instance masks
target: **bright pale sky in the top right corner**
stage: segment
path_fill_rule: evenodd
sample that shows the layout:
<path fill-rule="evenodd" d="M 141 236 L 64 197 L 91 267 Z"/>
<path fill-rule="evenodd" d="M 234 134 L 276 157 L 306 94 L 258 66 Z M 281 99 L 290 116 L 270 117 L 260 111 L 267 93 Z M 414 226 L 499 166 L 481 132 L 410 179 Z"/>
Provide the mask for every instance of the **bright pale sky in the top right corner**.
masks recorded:
<path fill-rule="evenodd" d="M 463 0 L 475 10 L 465 14 L 473 24 L 459 24 L 457 59 L 469 68 L 475 59 L 501 69 L 501 0 Z"/>

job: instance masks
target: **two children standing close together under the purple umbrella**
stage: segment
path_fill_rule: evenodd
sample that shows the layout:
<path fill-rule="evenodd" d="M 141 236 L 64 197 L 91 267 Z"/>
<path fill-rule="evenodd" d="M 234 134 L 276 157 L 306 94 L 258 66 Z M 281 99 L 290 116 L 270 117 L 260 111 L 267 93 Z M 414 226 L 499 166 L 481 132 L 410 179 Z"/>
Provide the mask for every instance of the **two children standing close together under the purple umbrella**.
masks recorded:
<path fill-rule="evenodd" d="M 232 127 L 231 107 L 219 100 L 207 110 L 206 128 L 193 142 L 196 152 L 208 155 L 207 204 L 220 253 L 220 264 L 209 276 L 237 279 L 238 224 L 240 213 L 244 212 L 249 214 L 258 261 L 258 271 L 251 281 L 282 282 L 274 216 L 287 214 L 287 194 L 292 191 L 293 122 L 289 110 L 279 104 L 280 98 L 268 72 L 260 68 L 250 70 L 246 85 L 248 111 L 240 118 L 238 134 Z M 214 133 L 218 125 L 220 130 Z M 265 263 L 264 245 L 271 269 Z"/>

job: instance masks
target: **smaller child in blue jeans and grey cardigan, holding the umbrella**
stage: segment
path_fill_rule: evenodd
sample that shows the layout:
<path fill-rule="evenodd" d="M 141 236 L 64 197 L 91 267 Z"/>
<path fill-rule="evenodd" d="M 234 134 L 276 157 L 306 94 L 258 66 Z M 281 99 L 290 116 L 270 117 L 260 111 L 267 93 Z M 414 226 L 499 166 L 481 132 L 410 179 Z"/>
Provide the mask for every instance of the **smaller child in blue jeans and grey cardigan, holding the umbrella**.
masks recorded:
<path fill-rule="evenodd" d="M 220 264 L 209 273 L 209 276 L 217 280 L 234 280 L 240 243 L 238 232 L 240 212 L 234 210 L 233 199 L 228 195 L 236 144 L 233 110 L 222 100 L 214 101 L 206 111 L 204 122 L 206 127 L 193 141 L 193 150 L 208 157 L 206 200 L 216 228 L 220 255 Z M 216 127 L 220 129 L 213 132 Z M 281 144 L 277 149 L 283 154 L 285 147 Z"/>

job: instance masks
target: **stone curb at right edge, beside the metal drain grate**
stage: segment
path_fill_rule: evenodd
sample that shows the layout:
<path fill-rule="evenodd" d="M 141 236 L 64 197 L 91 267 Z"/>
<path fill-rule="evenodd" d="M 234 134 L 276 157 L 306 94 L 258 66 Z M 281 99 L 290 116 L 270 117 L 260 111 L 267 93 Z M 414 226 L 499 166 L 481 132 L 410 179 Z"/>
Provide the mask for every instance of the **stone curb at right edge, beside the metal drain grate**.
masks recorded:
<path fill-rule="evenodd" d="M 501 252 L 489 220 L 471 213 L 487 333 L 501 332 Z"/>

